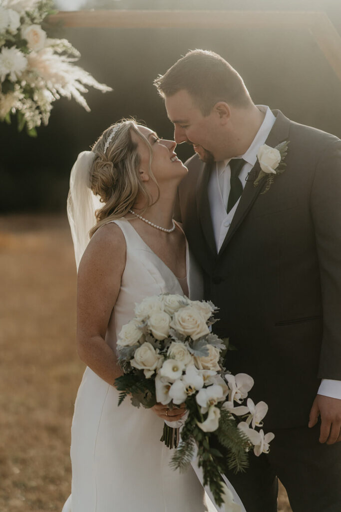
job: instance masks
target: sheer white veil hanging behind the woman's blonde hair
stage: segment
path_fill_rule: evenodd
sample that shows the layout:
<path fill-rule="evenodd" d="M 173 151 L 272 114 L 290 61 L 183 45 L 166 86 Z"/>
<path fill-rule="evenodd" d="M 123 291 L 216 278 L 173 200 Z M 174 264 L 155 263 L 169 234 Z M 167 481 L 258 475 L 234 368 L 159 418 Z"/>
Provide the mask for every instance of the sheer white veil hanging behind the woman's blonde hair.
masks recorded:
<path fill-rule="evenodd" d="M 99 197 L 95 196 L 89 188 L 90 172 L 94 160 L 95 153 L 83 151 L 78 155 L 70 175 L 67 218 L 74 243 L 77 270 L 90 240 L 89 230 L 96 224 L 95 211 L 103 206 Z"/>

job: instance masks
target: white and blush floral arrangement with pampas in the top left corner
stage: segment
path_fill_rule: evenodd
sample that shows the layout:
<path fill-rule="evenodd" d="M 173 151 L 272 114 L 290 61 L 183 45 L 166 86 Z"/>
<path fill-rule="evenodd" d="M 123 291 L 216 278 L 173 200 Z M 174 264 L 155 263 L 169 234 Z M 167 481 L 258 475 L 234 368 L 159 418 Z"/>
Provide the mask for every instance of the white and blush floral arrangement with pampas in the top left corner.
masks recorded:
<path fill-rule="evenodd" d="M 52 103 L 60 96 L 74 98 L 86 111 L 85 86 L 111 91 L 82 68 L 75 66 L 80 53 L 66 39 L 52 39 L 41 28 L 52 14 L 52 0 L 2 0 L 0 2 L 0 120 L 11 122 L 16 113 L 18 130 L 49 122 Z"/>

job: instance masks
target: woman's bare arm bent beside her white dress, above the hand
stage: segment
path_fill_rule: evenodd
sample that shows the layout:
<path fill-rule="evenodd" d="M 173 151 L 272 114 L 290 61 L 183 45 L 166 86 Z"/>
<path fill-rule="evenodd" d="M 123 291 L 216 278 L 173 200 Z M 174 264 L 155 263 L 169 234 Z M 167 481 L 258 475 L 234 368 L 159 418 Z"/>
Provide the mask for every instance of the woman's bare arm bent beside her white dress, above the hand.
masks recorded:
<path fill-rule="evenodd" d="M 113 385 L 122 375 L 116 354 L 105 342 L 126 263 L 121 229 L 106 224 L 94 234 L 80 262 L 77 280 L 77 352 L 85 364 Z"/>

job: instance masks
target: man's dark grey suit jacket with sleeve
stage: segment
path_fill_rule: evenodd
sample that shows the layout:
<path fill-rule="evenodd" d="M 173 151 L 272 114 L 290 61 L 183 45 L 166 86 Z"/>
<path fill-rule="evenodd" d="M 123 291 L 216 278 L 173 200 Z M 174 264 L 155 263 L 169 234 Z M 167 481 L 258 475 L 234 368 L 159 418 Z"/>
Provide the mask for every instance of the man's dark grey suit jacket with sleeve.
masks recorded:
<path fill-rule="evenodd" d="M 220 308 L 214 330 L 237 348 L 226 368 L 254 377 L 266 429 L 307 425 L 320 379 L 341 380 L 341 141 L 274 114 L 266 144 L 289 141 L 286 170 L 262 194 L 256 163 L 219 253 L 197 155 L 176 215 Z"/>

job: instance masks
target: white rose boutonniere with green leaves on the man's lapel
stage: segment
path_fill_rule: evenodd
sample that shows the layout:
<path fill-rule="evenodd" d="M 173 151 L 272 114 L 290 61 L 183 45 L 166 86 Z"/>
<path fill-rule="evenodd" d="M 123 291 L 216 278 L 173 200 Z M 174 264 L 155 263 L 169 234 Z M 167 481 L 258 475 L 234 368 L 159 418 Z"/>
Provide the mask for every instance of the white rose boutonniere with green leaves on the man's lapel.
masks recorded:
<path fill-rule="evenodd" d="M 267 176 L 265 189 L 262 191 L 262 194 L 266 194 L 272 183 L 274 183 L 275 176 L 284 173 L 286 167 L 284 159 L 288 152 L 288 144 L 289 141 L 285 140 L 276 147 L 270 147 L 266 144 L 260 146 L 257 158 L 261 170 L 254 181 L 254 187 L 257 187 L 260 180 Z"/>

